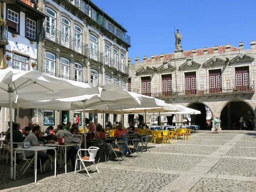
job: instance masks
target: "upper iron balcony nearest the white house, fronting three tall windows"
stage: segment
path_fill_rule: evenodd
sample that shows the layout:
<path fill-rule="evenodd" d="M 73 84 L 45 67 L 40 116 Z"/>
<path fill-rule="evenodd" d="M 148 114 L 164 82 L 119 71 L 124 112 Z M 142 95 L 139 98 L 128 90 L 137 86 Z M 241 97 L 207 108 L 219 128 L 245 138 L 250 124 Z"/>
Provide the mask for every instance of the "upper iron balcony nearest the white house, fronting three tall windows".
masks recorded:
<path fill-rule="evenodd" d="M 44 39 L 50 40 L 87 57 L 88 46 L 86 44 L 81 43 L 80 39 L 72 38 L 69 34 L 61 32 L 51 26 L 44 26 Z"/>

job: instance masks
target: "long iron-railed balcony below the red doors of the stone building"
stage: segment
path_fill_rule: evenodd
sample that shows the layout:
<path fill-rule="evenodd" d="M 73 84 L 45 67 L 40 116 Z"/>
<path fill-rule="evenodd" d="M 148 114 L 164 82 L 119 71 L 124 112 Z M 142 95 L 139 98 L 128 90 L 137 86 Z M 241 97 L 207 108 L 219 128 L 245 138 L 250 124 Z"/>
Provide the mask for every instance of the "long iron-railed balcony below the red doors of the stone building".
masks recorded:
<path fill-rule="evenodd" d="M 172 97 L 172 96 L 201 96 L 201 95 L 212 95 L 212 94 L 234 94 L 234 93 L 254 93 L 254 81 L 251 86 L 230 86 L 227 84 L 225 88 L 208 88 L 194 90 L 180 90 L 180 87 L 172 87 L 169 90 L 162 90 L 162 88 L 155 88 L 151 90 L 150 96 L 152 97 Z M 145 93 L 142 93 L 145 94 Z"/>

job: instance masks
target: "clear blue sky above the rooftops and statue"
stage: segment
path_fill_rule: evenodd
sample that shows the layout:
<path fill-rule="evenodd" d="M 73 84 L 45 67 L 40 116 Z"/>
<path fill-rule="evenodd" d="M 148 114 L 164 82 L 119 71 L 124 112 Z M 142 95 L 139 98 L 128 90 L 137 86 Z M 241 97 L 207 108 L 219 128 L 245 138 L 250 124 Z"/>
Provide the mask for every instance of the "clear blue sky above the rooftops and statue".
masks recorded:
<path fill-rule="evenodd" d="M 93 0 L 127 29 L 131 36 L 128 57 L 172 53 L 174 28 L 183 38 L 182 49 L 231 44 L 244 49 L 256 40 L 255 0 Z"/>

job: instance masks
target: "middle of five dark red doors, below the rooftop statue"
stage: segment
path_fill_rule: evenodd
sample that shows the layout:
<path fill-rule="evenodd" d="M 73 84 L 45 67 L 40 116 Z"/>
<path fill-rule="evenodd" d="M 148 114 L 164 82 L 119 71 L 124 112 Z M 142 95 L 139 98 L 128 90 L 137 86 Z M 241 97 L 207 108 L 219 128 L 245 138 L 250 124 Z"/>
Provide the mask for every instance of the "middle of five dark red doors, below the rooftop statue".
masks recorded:
<path fill-rule="evenodd" d="M 185 95 L 196 94 L 195 72 L 185 73 Z"/>

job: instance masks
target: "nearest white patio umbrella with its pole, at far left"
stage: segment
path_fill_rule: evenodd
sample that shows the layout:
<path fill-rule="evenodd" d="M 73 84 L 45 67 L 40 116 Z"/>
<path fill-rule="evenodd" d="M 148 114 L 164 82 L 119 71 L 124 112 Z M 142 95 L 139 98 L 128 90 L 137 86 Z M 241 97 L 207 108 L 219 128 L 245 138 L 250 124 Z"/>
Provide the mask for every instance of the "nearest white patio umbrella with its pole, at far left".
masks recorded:
<path fill-rule="evenodd" d="M 41 71 L 20 71 L 11 67 L 0 70 L 0 103 L 9 102 L 11 159 L 13 157 L 12 104 L 13 102 L 58 99 L 99 93 L 91 84 L 60 79 Z M 13 161 L 11 160 L 11 179 L 13 179 Z"/>

